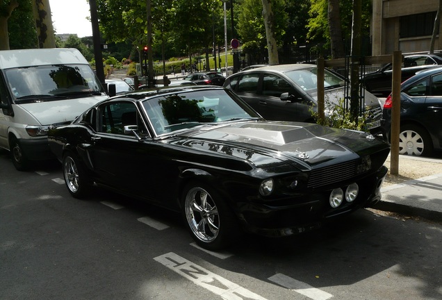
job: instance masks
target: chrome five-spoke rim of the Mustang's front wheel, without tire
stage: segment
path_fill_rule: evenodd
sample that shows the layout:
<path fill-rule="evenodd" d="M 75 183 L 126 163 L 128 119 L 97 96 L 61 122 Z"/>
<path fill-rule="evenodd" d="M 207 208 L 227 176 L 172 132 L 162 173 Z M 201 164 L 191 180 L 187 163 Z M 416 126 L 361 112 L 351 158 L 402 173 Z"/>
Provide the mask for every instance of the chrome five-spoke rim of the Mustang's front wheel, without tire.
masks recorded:
<path fill-rule="evenodd" d="M 202 242 L 213 242 L 220 233 L 220 215 L 212 197 L 203 188 L 188 190 L 184 212 L 190 231 Z"/>

